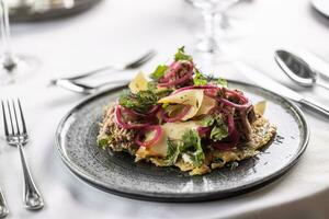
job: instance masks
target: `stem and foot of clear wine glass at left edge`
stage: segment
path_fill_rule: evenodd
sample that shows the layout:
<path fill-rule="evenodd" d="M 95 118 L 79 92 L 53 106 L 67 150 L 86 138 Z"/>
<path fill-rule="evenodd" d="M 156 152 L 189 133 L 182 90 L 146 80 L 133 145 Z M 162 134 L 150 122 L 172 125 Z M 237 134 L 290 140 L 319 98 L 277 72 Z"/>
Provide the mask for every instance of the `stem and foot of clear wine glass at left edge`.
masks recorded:
<path fill-rule="evenodd" d="M 36 72 L 39 62 L 34 57 L 12 53 L 7 0 L 0 0 L 0 16 L 3 49 L 0 56 L 0 85 L 5 85 L 30 78 Z"/>

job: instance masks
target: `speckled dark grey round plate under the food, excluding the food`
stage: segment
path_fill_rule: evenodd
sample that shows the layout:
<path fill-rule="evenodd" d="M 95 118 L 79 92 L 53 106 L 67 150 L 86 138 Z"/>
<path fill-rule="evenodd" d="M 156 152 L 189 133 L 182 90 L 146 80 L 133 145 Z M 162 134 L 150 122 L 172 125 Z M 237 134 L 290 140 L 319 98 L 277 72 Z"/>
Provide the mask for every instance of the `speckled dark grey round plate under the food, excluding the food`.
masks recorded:
<path fill-rule="evenodd" d="M 88 97 L 60 122 L 56 146 L 69 170 L 109 193 L 158 201 L 198 201 L 224 198 L 265 185 L 288 171 L 306 149 L 309 138 L 300 110 L 269 91 L 240 82 L 230 88 L 246 92 L 253 103 L 266 100 L 265 116 L 277 126 L 275 139 L 253 159 L 238 168 L 213 171 L 204 176 L 189 176 L 175 168 L 135 163 L 123 152 L 109 153 L 97 146 L 103 107 L 122 93 L 118 89 Z"/>

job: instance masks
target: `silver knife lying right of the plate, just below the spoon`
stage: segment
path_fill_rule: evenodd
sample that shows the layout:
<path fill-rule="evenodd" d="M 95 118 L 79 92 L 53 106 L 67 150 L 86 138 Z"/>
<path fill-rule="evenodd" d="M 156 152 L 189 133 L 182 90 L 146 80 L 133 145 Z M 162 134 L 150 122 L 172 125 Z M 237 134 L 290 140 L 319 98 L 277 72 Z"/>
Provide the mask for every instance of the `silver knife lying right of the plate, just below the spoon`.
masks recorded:
<path fill-rule="evenodd" d="M 272 91 L 273 93 L 276 93 L 281 96 L 290 99 L 294 102 L 300 103 L 304 106 L 316 110 L 317 112 L 320 112 L 320 113 L 329 116 L 329 106 L 318 103 L 309 97 L 302 95 L 300 93 L 297 93 L 296 91 L 294 91 L 285 85 L 282 85 L 277 81 L 257 71 L 256 69 L 251 68 L 250 66 L 248 66 L 246 64 L 236 62 L 235 67 L 237 70 L 239 70 L 239 72 L 248 72 L 248 73 L 245 73 L 243 76 L 246 76 L 251 81 L 256 82 L 258 85 L 260 85 L 269 91 Z"/>

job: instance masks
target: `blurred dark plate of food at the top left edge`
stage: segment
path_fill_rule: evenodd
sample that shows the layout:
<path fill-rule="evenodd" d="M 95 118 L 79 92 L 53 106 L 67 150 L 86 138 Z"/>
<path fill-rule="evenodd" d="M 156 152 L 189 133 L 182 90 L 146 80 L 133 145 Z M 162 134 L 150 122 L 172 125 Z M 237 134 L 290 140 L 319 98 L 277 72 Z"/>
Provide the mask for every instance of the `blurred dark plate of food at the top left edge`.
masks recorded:
<path fill-rule="evenodd" d="M 63 18 L 90 9 L 101 0 L 11 0 L 11 21 L 35 21 Z"/>

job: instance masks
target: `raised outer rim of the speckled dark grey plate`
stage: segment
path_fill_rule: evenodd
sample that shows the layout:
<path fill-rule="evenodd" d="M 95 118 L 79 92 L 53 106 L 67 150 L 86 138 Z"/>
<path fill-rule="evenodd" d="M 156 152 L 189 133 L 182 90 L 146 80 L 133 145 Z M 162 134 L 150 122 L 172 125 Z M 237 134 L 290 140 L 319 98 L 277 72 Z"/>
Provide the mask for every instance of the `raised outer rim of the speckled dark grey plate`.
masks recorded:
<path fill-rule="evenodd" d="M 156 201 L 170 201 L 170 203 L 191 203 L 191 201 L 204 201 L 204 200 L 214 200 L 214 199 L 222 199 L 222 198 L 226 198 L 226 197 L 230 197 L 234 195 L 240 195 L 240 194 L 245 194 L 248 193 L 250 191 L 257 189 L 259 187 L 262 187 L 263 185 L 270 184 L 272 182 L 274 182 L 275 180 L 277 180 L 279 177 L 281 177 L 282 175 L 284 175 L 288 170 L 291 170 L 299 160 L 300 155 L 305 152 L 308 142 L 309 142 L 309 137 L 310 137 L 310 130 L 309 130 L 309 125 L 305 118 L 305 115 L 303 113 L 303 111 L 299 108 L 299 106 L 297 106 L 294 102 L 287 100 L 284 96 L 281 96 L 272 91 L 269 91 L 262 87 L 258 87 L 256 84 L 251 84 L 251 83 L 247 83 L 247 82 L 241 82 L 241 81 L 237 81 L 237 80 L 227 80 L 228 83 L 235 83 L 238 85 L 242 85 L 242 87 L 249 87 L 249 88 L 254 88 L 261 91 L 264 91 L 269 94 L 271 94 L 274 97 L 279 97 L 281 100 L 283 100 L 284 102 L 286 102 L 290 106 L 291 106 L 291 111 L 294 113 L 295 116 L 297 116 L 297 118 L 299 119 L 299 122 L 302 123 L 302 129 L 305 131 L 305 136 L 302 139 L 303 145 L 300 146 L 300 149 L 298 150 L 298 152 L 293 157 L 292 161 L 290 163 L 287 163 L 285 166 L 283 166 L 281 170 L 265 176 L 262 177 L 261 181 L 254 181 L 252 183 L 246 184 L 246 185 L 241 185 L 238 187 L 234 187 L 234 188 L 229 188 L 226 189 L 225 192 L 202 192 L 198 194 L 191 194 L 191 193 L 156 193 L 156 192 L 140 192 L 140 191 L 122 191 L 122 189 L 116 189 L 113 187 L 109 187 L 109 184 L 103 183 L 102 181 L 98 181 L 95 178 L 90 177 L 88 174 L 83 173 L 83 170 L 81 170 L 79 166 L 77 166 L 72 161 L 70 161 L 70 159 L 68 159 L 66 157 L 66 154 L 64 153 L 64 151 L 61 150 L 63 146 L 60 146 L 60 134 L 61 130 L 66 124 L 66 122 L 68 120 L 68 118 L 76 112 L 78 111 L 80 107 L 82 107 L 83 105 L 86 105 L 88 102 L 105 95 L 106 93 L 110 92 L 114 92 L 114 91 L 118 91 L 122 89 L 127 88 L 127 84 L 125 85 L 118 85 L 115 88 L 111 88 L 104 91 L 100 91 L 97 92 L 92 95 L 89 95 L 84 99 L 82 99 L 78 104 L 76 104 L 59 122 L 56 132 L 55 132 L 55 147 L 57 148 L 57 151 L 60 155 L 61 161 L 65 163 L 65 165 L 68 168 L 68 170 L 79 180 L 81 180 L 82 182 L 87 183 L 88 185 L 95 187 L 98 189 L 101 189 L 103 192 L 106 193 L 111 193 L 111 194 L 115 194 L 115 195 L 120 195 L 123 197 L 129 197 L 129 198 L 134 198 L 134 199 L 141 199 L 141 200 L 156 200 Z M 196 176 L 200 177 L 200 176 Z"/>

